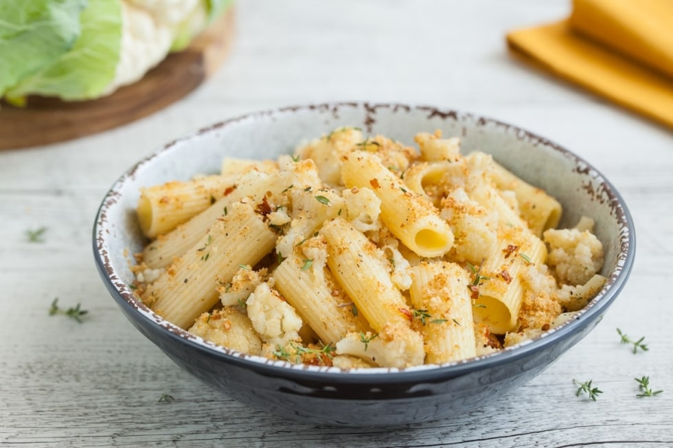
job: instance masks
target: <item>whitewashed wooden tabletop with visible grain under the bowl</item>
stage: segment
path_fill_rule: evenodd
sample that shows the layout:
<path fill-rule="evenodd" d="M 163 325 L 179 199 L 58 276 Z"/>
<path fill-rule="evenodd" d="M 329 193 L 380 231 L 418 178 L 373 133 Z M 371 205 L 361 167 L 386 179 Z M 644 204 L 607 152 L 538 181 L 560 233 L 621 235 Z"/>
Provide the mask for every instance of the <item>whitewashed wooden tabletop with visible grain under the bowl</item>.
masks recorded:
<path fill-rule="evenodd" d="M 161 113 L 45 148 L 0 152 L 0 445 L 45 447 L 673 447 L 673 132 L 525 67 L 504 34 L 569 2 L 240 1 L 233 53 Z M 556 364 L 446 421 L 343 429 L 246 408 L 183 373 L 126 321 L 95 271 L 91 228 L 122 171 L 159 145 L 253 110 L 340 100 L 470 110 L 577 152 L 635 220 L 630 281 Z M 39 132 L 39 123 L 35 123 Z M 43 242 L 26 231 L 45 226 Z M 78 323 L 49 316 L 81 303 Z M 620 345 L 619 327 L 649 351 Z M 649 375 L 657 397 L 637 398 Z M 597 401 L 575 397 L 593 380 Z M 163 394 L 174 401 L 159 402 Z"/>

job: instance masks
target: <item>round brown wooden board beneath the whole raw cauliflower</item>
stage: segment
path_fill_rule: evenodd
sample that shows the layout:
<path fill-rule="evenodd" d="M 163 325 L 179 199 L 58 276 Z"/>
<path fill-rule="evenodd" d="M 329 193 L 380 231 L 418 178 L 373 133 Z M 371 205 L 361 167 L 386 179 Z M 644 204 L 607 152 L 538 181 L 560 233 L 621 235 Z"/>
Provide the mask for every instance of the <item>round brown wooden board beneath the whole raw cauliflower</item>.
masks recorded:
<path fill-rule="evenodd" d="M 0 104 L 0 150 L 66 141 L 115 128 L 161 110 L 181 99 L 212 75 L 225 60 L 233 40 L 233 9 L 194 39 L 168 55 L 135 84 L 85 102 L 29 97 L 25 108 Z"/>

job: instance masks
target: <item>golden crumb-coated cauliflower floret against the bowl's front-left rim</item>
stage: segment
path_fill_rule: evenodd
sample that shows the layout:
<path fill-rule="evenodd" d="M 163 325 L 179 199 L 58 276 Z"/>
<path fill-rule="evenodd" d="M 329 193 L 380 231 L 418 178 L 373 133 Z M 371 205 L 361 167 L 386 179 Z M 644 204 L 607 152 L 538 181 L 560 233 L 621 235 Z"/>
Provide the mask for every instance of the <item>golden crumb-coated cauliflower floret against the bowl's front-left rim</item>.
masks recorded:
<path fill-rule="evenodd" d="M 189 331 L 227 349 L 251 355 L 259 355 L 262 352 L 260 336 L 255 333 L 250 319 L 237 307 L 203 313 Z"/>

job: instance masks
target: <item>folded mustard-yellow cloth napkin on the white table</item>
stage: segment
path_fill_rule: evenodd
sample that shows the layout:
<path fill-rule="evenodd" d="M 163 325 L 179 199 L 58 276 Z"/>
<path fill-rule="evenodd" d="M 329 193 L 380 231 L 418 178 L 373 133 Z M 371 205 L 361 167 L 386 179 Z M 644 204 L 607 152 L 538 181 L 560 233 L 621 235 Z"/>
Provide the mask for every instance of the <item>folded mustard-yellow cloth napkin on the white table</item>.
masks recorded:
<path fill-rule="evenodd" d="M 568 19 L 507 34 L 514 54 L 673 128 L 673 0 L 574 0 Z"/>

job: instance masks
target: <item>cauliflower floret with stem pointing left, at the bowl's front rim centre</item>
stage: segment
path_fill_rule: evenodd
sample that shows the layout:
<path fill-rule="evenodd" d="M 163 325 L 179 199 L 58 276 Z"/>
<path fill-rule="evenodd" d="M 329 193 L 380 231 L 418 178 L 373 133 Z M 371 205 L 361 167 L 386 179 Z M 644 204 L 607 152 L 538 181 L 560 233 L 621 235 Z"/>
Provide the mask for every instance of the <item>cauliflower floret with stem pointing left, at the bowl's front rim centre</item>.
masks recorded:
<path fill-rule="evenodd" d="M 336 354 L 398 368 L 419 366 L 425 359 L 422 336 L 400 324 L 388 324 L 379 333 L 348 333 L 336 343 Z"/>

